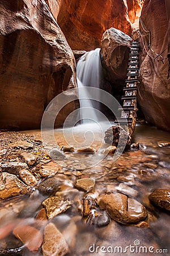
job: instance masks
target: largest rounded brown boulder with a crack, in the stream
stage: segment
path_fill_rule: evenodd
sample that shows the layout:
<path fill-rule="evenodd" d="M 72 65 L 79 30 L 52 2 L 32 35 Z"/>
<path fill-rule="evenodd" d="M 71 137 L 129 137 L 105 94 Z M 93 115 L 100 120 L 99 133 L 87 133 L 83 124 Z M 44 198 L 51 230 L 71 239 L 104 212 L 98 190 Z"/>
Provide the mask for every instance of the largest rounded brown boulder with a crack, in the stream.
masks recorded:
<path fill-rule="evenodd" d="M 99 206 L 106 209 L 111 218 L 122 223 L 137 223 L 147 217 L 146 209 L 138 201 L 121 193 L 103 195 Z"/>

